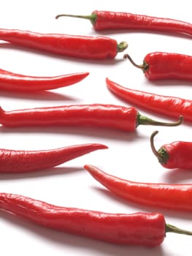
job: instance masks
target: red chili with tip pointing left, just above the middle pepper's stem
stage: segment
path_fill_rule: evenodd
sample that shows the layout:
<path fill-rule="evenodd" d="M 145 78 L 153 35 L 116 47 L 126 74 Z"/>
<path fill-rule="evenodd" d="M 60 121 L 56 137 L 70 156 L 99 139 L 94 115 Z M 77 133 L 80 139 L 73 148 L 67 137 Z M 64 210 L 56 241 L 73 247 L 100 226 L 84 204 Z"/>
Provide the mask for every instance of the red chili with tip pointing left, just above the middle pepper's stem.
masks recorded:
<path fill-rule="evenodd" d="M 126 102 L 145 108 L 164 116 L 183 116 L 184 121 L 192 121 L 192 101 L 172 96 L 151 94 L 120 86 L 118 83 L 106 79 L 107 87 Z"/>

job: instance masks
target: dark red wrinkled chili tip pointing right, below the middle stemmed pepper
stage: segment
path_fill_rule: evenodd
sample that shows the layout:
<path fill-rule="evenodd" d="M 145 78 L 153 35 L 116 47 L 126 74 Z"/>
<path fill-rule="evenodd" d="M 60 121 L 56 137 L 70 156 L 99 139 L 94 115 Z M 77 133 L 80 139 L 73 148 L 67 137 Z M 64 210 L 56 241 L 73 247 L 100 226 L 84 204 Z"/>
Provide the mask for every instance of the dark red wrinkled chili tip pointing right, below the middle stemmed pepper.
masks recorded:
<path fill-rule="evenodd" d="M 0 173 L 26 173 L 61 165 L 107 146 L 88 143 L 41 151 L 10 150 L 0 148 Z"/>

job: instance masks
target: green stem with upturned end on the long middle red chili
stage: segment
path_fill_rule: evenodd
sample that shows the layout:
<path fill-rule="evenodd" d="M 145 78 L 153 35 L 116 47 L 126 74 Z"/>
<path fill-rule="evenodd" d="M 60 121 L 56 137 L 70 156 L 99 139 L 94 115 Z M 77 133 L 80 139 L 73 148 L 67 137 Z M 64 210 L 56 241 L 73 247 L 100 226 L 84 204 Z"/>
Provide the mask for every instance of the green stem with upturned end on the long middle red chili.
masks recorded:
<path fill-rule="evenodd" d="M 142 116 L 138 113 L 137 116 L 137 126 L 140 124 L 144 125 L 156 125 L 156 126 L 163 126 L 163 127 L 176 127 L 177 125 L 180 125 L 183 122 L 183 116 L 180 116 L 179 120 L 173 123 L 166 123 L 161 121 L 155 121 L 151 118 L 148 118 L 147 116 Z"/>

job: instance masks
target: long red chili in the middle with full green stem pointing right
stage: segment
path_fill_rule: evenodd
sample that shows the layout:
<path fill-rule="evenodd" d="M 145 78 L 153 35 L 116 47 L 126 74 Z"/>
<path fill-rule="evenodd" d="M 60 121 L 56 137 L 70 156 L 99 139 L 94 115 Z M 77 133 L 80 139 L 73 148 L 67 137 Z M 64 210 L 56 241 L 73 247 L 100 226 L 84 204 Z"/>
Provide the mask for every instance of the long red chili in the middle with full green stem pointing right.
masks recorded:
<path fill-rule="evenodd" d="M 140 115 L 136 108 L 104 104 L 63 105 L 12 111 L 0 108 L 0 124 L 4 127 L 80 126 L 133 132 L 139 124 L 172 127 L 181 124 L 182 120 L 180 116 L 174 123 L 155 121 Z"/>

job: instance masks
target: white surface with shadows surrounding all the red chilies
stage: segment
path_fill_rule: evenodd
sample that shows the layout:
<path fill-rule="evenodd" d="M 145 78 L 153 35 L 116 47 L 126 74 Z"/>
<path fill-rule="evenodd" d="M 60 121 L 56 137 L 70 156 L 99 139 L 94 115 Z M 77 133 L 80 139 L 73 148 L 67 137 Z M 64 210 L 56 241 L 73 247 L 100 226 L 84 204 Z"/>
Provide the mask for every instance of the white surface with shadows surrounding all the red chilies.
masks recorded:
<path fill-rule="evenodd" d="M 42 33 L 63 33 L 99 35 L 88 20 L 61 18 L 62 12 L 91 14 L 93 10 L 125 11 L 158 17 L 175 18 L 192 23 L 190 1 L 11 1 L 1 4 L 0 24 L 4 29 L 23 29 Z M 126 50 L 141 64 L 147 53 L 166 51 L 192 55 L 190 37 L 164 33 L 139 31 L 102 31 L 100 34 L 126 40 Z M 0 104 L 4 110 L 46 107 L 56 105 L 109 103 L 126 105 L 107 90 L 105 78 L 110 78 L 122 86 L 157 94 L 173 95 L 192 99 L 192 84 L 177 81 L 149 82 L 142 71 L 133 67 L 119 53 L 115 61 L 86 61 L 70 59 L 26 50 L 4 42 L 0 45 L 1 69 L 23 75 L 62 75 L 72 72 L 90 72 L 90 75 L 73 86 L 38 94 L 0 93 Z M 139 109 L 139 108 L 138 108 Z M 162 121 L 174 121 L 155 113 L 139 112 Z M 95 151 L 64 165 L 39 173 L 0 175 L 1 192 L 11 192 L 34 199 L 44 200 L 58 206 L 79 207 L 114 213 L 134 213 L 137 211 L 160 211 L 166 222 L 192 230 L 191 214 L 166 211 L 139 206 L 115 197 L 95 181 L 83 165 L 101 167 L 107 173 L 132 181 L 189 183 L 191 171 L 166 170 L 153 156 L 150 149 L 150 134 L 158 129 L 155 146 L 174 140 L 192 141 L 191 126 L 145 127 L 137 132 L 126 133 L 104 129 L 55 128 L 55 129 L 5 129 L 0 127 L 1 148 L 39 150 L 58 148 L 80 143 L 104 143 L 109 149 Z M 88 238 L 69 235 L 44 227 L 39 227 L 21 218 L 0 213 L 1 252 L 3 255 L 190 255 L 188 248 L 192 238 L 168 233 L 164 243 L 153 249 L 139 246 L 116 246 L 93 241 Z"/>

